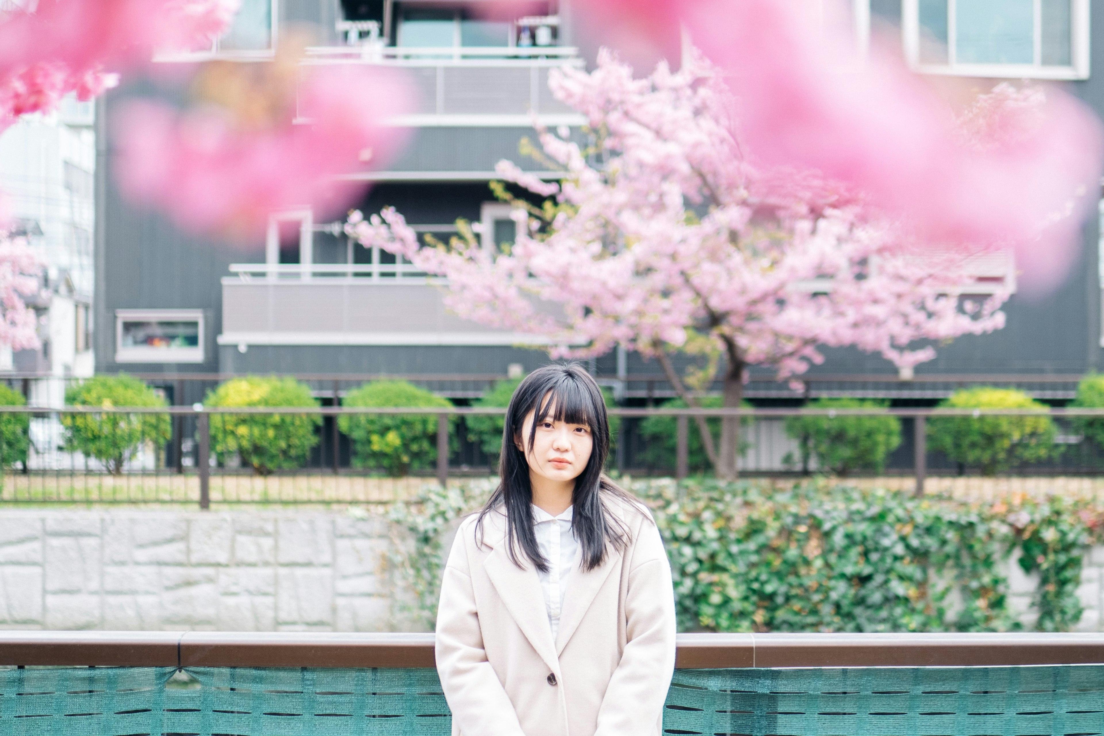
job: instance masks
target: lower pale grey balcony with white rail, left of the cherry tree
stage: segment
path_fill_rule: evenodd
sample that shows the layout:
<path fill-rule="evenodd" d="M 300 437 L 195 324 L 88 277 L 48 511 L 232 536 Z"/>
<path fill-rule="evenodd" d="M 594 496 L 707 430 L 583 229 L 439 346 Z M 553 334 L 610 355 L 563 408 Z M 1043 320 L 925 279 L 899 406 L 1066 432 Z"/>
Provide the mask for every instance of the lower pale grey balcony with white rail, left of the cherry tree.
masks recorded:
<path fill-rule="evenodd" d="M 444 305 L 410 264 L 233 264 L 222 279 L 220 345 L 514 345 L 516 334 Z"/>

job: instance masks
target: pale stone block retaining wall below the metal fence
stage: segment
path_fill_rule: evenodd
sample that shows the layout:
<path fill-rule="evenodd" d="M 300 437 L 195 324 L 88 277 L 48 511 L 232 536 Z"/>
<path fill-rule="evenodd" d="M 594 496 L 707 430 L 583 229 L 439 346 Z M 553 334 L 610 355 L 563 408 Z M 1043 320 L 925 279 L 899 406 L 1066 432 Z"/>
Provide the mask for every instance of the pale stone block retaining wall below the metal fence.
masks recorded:
<path fill-rule="evenodd" d="M 4 510 L 0 628 L 388 631 L 386 522 L 339 513 Z M 1010 561 L 1030 628 L 1038 578 Z M 1104 631 L 1104 547 L 1082 631 Z"/>

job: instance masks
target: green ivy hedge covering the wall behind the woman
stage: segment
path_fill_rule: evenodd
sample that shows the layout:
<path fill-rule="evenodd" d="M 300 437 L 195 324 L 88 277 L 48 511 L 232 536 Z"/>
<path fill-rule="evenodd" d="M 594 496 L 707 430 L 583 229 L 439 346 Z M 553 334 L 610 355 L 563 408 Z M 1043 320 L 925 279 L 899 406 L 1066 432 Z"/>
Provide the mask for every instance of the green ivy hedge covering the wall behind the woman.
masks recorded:
<path fill-rule="evenodd" d="M 427 486 L 391 512 L 404 618 L 433 626 L 444 544 L 493 480 Z M 1011 631 L 1008 561 L 1038 569 L 1041 631 L 1081 617 L 1084 552 L 1104 512 L 1060 498 L 981 505 L 813 480 L 790 488 L 631 481 L 671 561 L 683 631 Z"/>

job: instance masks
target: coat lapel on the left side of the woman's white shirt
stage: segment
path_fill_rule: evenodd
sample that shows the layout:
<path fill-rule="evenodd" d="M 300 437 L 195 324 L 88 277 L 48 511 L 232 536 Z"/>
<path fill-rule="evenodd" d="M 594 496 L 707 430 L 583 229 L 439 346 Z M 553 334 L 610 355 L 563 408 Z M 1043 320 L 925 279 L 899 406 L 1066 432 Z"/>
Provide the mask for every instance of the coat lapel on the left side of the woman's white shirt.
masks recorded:
<path fill-rule="evenodd" d="M 506 519 L 502 514 L 487 514 L 485 529 L 485 544 L 492 550 L 484 561 L 484 569 L 487 570 L 491 585 L 549 670 L 559 672 L 560 660 L 552 641 L 552 628 L 549 626 L 537 568 L 529 564 L 522 569 L 510 561 L 507 554 Z"/>

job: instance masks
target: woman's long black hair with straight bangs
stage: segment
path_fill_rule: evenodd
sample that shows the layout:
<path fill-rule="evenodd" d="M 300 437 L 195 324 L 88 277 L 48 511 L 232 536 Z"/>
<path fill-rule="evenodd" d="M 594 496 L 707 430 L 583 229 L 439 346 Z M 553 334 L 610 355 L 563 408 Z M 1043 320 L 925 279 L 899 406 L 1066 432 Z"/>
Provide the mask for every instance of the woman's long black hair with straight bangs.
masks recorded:
<path fill-rule="evenodd" d="M 529 437 L 521 437 L 526 416 L 533 412 L 533 426 Z M 633 508 L 638 506 L 627 492 L 618 488 L 603 472 L 609 456 L 609 419 L 602 390 L 577 363 L 552 364 L 537 369 L 521 382 L 510 398 L 502 429 L 502 452 L 499 456 L 500 482 L 487 505 L 479 512 L 476 536 L 481 540 L 484 518 L 498 509 L 506 514 L 507 552 L 513 564 L 523 567 L 521 557 L 528 557 L 541 572 L 549 564 L 541 555 L 533 533 L 533 489 L 529 482 L 527 452 L 518 449 L 520 440 L 532 450 L 537 425 L 542 419 L 586 425 L 594 440 L 586 468 L 575 478 L 572 492 L 572 531 L 581 547 L 583 569 L 594 569 L 606 557 L 608 546 L 624 550 L 629 533 L 617 516 L 605 506 L 606 500 L 619 499 Z M 518 554 L 521 548 L 521 555 Z"/>

